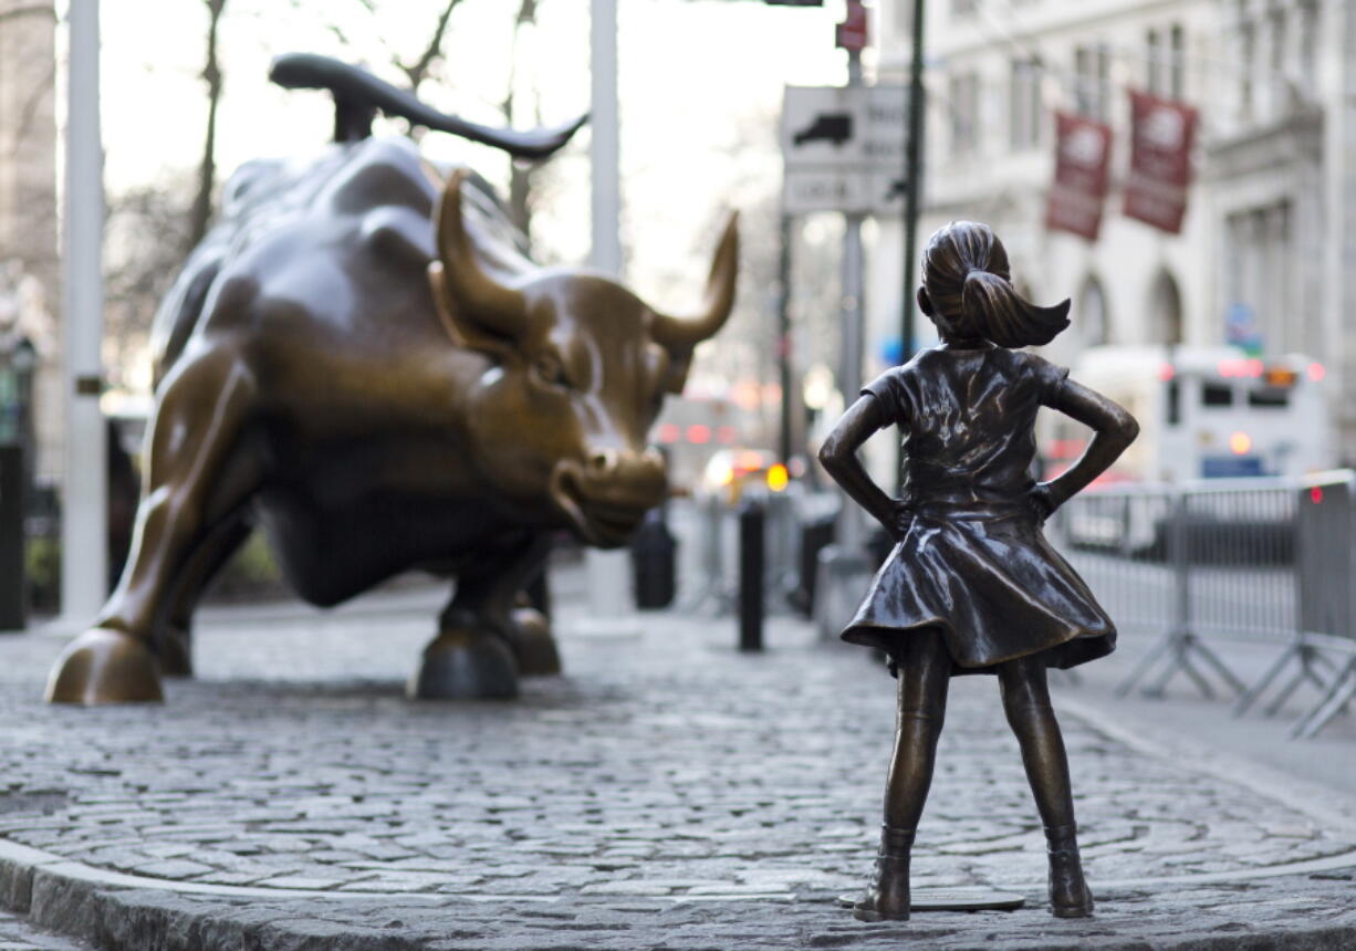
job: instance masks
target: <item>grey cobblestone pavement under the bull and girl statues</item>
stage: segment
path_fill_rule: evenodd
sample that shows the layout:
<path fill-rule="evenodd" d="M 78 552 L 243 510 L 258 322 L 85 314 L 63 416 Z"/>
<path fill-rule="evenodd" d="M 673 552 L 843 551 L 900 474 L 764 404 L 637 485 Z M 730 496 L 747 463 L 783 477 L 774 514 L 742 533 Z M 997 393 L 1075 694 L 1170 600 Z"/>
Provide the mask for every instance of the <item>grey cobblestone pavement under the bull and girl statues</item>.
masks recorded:
<path fill-rule="evenodd" d="M 0 902 L 138 950 L 1356 944 L 1352 798 L 1142 724 L 1090 674 L 1056 708 L 1097 916 L 1044 910 L 1017 746 L 974 677 L 914 883 L 1028 904 L 868 925 L 835 904 L 869 872 L 894 730 L 866 651 L 778 619 L 740 655 L 730 619 L 628 634 L 564 597 L 565 677 L 412 704 L 442 600 L 207 610 L 164 707 L 46 707 L 60 639 L 0 640 Z"/>

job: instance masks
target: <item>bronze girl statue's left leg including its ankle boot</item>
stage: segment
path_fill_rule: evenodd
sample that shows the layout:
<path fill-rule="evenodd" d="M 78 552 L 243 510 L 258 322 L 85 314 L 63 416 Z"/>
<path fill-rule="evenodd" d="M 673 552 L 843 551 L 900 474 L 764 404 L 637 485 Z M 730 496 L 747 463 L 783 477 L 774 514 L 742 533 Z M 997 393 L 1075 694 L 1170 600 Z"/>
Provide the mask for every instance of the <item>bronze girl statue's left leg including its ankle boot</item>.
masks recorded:
<path fill-rule="evenodd" d="M 892 659 L 899 677 L 899 720 L 885 783 L 880 855 L 856 908 L 864 921 L 909 917 L 909 853 L 932 785 L 951 682 L 951 654 L 937 631 L 909 635 Z"/>

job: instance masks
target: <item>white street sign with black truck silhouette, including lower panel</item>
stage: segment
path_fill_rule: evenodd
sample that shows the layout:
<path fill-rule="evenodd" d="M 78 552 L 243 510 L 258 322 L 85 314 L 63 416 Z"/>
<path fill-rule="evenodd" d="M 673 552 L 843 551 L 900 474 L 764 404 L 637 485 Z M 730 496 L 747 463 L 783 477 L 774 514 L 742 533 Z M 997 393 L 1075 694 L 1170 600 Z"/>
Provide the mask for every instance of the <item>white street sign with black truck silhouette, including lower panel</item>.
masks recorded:
<path fill-rule="evenodd" d="M 902 213 L 906 100 L 902 85 L 786 87 L 784 210 Z"/>

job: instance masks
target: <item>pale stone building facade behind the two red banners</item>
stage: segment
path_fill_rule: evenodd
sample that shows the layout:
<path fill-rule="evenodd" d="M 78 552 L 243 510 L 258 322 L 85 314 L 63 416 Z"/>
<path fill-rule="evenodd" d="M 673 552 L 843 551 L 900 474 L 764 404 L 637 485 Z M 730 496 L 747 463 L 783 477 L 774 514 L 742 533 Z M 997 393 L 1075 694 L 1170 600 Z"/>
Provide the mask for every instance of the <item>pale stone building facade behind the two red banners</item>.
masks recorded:
<path fill-rule="evenodd" d="M 879 7 L 877 81 L 906 81 L 914 0 Z M 1074 301 L 1050 355 L 1216 346 L 1323 361 L 1334 463 L 1356 463 L 1356 9 L 1345 0 L 929 0 L 921 237 L 991 224 L 1037 303 Z M 1123 213 L 1130 92 L 1199 110 L 1181 232 Z M 1045 228 L 1056 111 L 1111 126 L 1097 240 Z M 898 324 L 902 228 L 880 222 L 873 327 Z M 1352 274 L 1348 278 L 1348 274 Z"/>

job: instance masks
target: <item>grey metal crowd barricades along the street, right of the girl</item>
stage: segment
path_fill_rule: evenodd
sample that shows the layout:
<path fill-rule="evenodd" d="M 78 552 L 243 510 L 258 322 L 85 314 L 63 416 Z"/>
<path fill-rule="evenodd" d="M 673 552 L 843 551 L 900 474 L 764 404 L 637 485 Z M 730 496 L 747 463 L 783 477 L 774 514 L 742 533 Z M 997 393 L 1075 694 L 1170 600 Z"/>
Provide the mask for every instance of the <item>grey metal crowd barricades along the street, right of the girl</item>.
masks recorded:
<path fill-rule="evenodd" d="M 1117 693 L 1143 682 L 1162 695 L 1181 673 L 1207 696 L 1223 681 L 1242 714 L 1280 685 L 1272 715 L 1309 682 L 1322 699 L 1295 735 L 1344 711 L 1356 697 L 1353 479 L 1132 486 L 1071 499 L 1051 520 L 1054 539 L 1121 629 L 1158 635 Z M 1205 638 L 1281 650 L 1246 686 Z"/>

